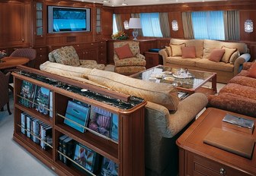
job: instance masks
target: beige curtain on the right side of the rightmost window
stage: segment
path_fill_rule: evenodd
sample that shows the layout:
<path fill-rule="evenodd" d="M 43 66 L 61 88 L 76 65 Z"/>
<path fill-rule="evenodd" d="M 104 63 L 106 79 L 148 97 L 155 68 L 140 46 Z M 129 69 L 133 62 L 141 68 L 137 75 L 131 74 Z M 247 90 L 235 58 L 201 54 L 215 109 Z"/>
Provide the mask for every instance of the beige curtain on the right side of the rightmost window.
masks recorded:
<path fill-rule="evenodd" d="M 239 11 L 224 11 L 226 40 L 240 40 Z"/>

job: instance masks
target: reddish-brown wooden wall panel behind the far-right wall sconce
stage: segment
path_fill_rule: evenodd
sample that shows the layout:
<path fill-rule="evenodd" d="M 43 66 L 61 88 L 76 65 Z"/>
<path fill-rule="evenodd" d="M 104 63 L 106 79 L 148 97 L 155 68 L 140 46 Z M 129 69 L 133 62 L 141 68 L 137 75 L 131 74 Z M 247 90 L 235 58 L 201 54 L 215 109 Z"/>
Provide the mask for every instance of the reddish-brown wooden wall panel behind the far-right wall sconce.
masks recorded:
<path fill-rule="evenodd" d="M 245 41 L 256 41 L 256 10 L 254 11 L 240 11 L 240 38 Z M 254 22 L 254 31 L 252 33 L 245 33 L 245 20 L 252 20 Z"/>

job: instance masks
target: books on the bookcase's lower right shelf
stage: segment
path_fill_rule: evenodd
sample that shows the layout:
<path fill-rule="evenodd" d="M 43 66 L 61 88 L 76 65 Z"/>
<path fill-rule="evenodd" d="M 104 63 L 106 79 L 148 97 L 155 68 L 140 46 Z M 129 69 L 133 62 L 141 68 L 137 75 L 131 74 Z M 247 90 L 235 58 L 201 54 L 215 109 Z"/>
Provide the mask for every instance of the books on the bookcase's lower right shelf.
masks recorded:
<path fill-rule="evenodd" d="M 84 172 L 86 170 L 91 173 L 98 175 L 118 175 L 118 165 L 107 159 L 106 157 L 100 156 L 94 150 L 88 148 L 87 146 L 82 145 L 81 143 L 76 142 L 71 137 L 62 135 L 59 137 L 59 160 L 66 165 L 74 165 L 78 170 Z M 75 165 L 69 159 L 72 159 L 78 165 Z"/>

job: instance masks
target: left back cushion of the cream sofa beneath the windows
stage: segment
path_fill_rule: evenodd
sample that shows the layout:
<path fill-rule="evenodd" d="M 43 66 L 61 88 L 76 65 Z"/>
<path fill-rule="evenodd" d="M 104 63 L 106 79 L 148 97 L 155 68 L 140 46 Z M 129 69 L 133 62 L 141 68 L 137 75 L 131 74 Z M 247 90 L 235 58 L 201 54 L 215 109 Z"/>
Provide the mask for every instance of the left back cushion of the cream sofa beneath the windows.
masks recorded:
<path fill-rule="evenodd" d="M 203 57 L 203 39 L 171 39 L 171 44 L 185 43 L 185 46 L 194 46 L 196 48 L 196 57 Z"/>

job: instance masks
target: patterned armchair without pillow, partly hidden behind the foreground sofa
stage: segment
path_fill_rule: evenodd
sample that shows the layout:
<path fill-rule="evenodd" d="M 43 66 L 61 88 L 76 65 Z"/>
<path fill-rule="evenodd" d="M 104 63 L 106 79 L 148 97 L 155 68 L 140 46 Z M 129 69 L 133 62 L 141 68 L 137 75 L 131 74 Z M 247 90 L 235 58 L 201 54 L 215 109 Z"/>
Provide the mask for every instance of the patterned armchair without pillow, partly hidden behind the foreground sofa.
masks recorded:
<path fill-rule="evenodd" d="M 48 55 L 49 61 L 57 62 L 59 64 L 65 64 L 80 68 L 97 68 L 104 70 L 104 64 L 98 64 L 94 60 L 80 60 L 78 54 L 73 46 L 65 46 L 60 49 L 55 49 Z"/>

